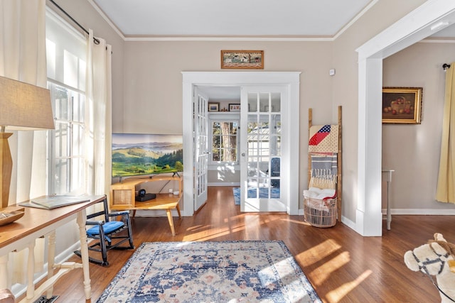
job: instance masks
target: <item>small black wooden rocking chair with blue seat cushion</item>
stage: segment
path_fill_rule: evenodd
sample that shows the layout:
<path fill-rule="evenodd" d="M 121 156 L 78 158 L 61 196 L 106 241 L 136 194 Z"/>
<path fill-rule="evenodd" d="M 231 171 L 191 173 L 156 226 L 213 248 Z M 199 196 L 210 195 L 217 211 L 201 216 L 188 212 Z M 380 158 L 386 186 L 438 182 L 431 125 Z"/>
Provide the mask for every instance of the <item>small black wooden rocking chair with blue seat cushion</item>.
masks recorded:
<path fill-rule="evenodd" d="M 87 226 L 93 226 L 87 229 L 87 240 L 93 239 L 88 245 L 88 249 L 101 253 L 102 260 L 92 258 L 92 263 L 107 266 L 107 251 L 111 249 L 134 249 L 133 234 L 131 222 L 129 220 L 129 211 L 116 211 L 109 213 L 107 197 L 102 200 L 103 209 L 94 214 L 87 215 Z M 91 219 L 97 216 L 104 216 L 104 220 L 93 221 Z M 116 218 L 117 217 L 117 218 Z M 119 219 L 119 220 L 116 220 Z M 120 246 L 122 243 L 129 241 L 129 246 Z M 80 256 L 80 250 L 74 252 Z"/>

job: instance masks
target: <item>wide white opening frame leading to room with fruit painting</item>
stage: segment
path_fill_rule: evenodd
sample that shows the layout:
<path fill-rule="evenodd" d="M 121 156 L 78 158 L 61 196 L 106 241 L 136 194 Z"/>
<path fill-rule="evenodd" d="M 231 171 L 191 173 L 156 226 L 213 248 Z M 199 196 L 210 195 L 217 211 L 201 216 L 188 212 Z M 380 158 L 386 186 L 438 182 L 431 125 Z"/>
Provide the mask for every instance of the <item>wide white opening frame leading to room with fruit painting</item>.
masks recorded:
<path fill-rule="evenodd" d="M 358 200 L 355 231 L 382 236 L 382 60 L 455 23 L 455 1 L 429 0 L 357 49 Z M 443 25 L 438 27 L 438 25 Z M 432 27 L 437 30 L 432 31 Z M 379 136 L 378 136 L 379 135 Z"/>

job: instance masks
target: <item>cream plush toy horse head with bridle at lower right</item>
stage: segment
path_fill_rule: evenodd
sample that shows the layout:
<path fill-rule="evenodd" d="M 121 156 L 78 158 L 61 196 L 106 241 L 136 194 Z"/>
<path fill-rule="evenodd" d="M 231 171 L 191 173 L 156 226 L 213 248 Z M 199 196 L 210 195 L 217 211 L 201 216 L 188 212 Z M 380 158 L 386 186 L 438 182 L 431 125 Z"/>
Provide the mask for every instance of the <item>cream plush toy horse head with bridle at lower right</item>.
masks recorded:
<path fill-rule="evenodd" d="M 427 244 L 408 250 L 405 264 L 429 276 L 439 290 L 441 303 L 455 302 L 455 244 L 448 243 L 441 233 L 434 233 L 434 240 Z"/>

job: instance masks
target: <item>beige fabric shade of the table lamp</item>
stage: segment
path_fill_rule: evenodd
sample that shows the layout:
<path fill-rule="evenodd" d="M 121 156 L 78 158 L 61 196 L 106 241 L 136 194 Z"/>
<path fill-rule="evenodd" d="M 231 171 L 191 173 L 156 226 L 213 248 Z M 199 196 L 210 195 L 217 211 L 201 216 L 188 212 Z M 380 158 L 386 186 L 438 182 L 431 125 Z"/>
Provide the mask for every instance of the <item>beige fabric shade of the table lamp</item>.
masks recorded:
<path fill-rule="evenodd" d="M 55 128 L 49 89 L 0 77 L 0 126 Z"/>

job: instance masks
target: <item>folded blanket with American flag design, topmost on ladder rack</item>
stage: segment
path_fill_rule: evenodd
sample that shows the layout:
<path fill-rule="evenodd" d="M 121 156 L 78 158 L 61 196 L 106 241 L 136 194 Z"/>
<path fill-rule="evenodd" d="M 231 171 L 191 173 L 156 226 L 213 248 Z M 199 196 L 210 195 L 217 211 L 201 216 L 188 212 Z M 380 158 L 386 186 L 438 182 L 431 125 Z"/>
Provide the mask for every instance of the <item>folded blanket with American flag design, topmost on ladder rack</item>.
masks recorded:
<path fill-rule="evenodd" d="M 338 153 L 338 125 L 310 127 L 309 153 Z"/>

